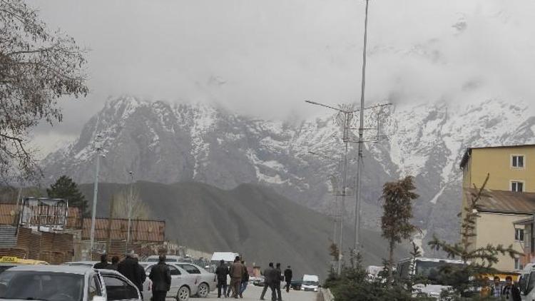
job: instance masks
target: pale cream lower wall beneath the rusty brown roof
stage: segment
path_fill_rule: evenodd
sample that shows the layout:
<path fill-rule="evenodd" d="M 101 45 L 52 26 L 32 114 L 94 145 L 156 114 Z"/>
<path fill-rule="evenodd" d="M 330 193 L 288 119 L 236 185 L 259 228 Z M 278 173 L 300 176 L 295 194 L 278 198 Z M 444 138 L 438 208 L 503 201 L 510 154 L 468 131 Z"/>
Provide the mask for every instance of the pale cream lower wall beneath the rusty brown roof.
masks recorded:
<path fill-rule="evenodd" d="M 499 213 L 480 213 L 477 219 L 476 227 L 476 244 L 474 248 L 483 248 L 488 244 L 504 245 L 505 248 L 513 245 L 518 252 L 524 252 L 524 243 L 514 240 L 514 225 L 516 220 L 523 220 L 529 215 L 506 215 Z M 517 225 L 516 228 L 524 228 Z M 525 233 L 524 233 L 525 239 Z M 522 260 L 521 260 L 522 261 Z M 514 270 L 514 259 L 509 255 L 499 255 L 499 262 L 494 265 L 497 270 L 502 272 L 512 272 Z"/>

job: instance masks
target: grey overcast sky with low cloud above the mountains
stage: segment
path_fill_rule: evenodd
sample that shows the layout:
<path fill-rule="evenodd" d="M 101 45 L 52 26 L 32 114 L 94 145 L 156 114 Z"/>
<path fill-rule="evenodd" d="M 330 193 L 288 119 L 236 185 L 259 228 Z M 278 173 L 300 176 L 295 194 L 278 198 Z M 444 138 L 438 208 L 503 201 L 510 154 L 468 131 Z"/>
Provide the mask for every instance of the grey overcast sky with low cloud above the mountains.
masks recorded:
<path fill-rule="evenodd" d="M 37 141 L 76 136 L 109 96 L 315 113 L 360 99 L 362 0 L 29 1 L 88 54 L 91 93 Z M 533 101 L 535 1 L 371 0 L 367 100 Z"/>

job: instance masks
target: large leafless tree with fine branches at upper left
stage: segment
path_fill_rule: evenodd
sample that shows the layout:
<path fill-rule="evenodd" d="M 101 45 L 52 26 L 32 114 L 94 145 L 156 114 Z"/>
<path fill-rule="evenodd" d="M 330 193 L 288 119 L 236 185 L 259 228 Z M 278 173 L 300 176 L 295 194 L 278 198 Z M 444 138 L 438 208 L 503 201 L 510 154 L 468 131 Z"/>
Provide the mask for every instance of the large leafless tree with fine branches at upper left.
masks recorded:
<path fill-rule="evenodd" d="M 41 177 L 29 131 L 61 122 L 59 98 L 86 96 L 85 56 L 24 1 L 0 0 L 0 180 Z"/>

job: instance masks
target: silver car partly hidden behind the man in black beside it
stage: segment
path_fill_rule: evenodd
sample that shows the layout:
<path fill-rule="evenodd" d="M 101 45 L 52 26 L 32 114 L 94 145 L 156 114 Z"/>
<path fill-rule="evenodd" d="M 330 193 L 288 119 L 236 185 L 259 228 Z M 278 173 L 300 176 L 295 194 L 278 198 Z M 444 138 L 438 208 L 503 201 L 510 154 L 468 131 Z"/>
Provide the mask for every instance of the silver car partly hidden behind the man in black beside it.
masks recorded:
<path fill-rule="evenodd" d="M 147 279 L 143 282 L 143 299 L 151 300 L 152 293 L 152 281 L 148 279 L 148 275 L 151 274 L 151 269 L 157 262 L 139 262 L 145 268 L 147 273 Z M 190 296 L 197 295 L 198 293 L 198 275 L 190 275 L 188 272 L 179 267 L 175 262 L 167 262 L 167 265 L 171 272 L 171 287 L 167 292 L 167 297 L 173 297 L 177 301 L 186 301 Z"/>

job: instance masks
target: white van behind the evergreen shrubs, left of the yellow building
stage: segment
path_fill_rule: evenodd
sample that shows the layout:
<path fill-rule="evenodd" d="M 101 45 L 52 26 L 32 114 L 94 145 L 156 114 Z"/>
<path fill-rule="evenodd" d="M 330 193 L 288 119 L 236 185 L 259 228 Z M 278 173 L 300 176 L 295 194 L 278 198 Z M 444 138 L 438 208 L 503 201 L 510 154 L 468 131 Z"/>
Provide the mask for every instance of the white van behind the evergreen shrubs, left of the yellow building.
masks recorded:
<path fill-rule="evenodd" d="M 414 262 L 414 265 L 412 263 Z M 461 260 L 446 260 L 438 258 L 417 257 L 416 259 L 408 258 L 401 260 L 397 264 L 397 274 L 399 277 L 408 279 L 410 276 L 419 275 L 429 281 L 428 285 L 417 283 L 414 289 L 417 292 L 414 295 L 422 297 L 439 298 L 442 290 L 447 290 L 449 286 L 440 275 L 440 270 L 446 265 L 463 265 Z"/>

